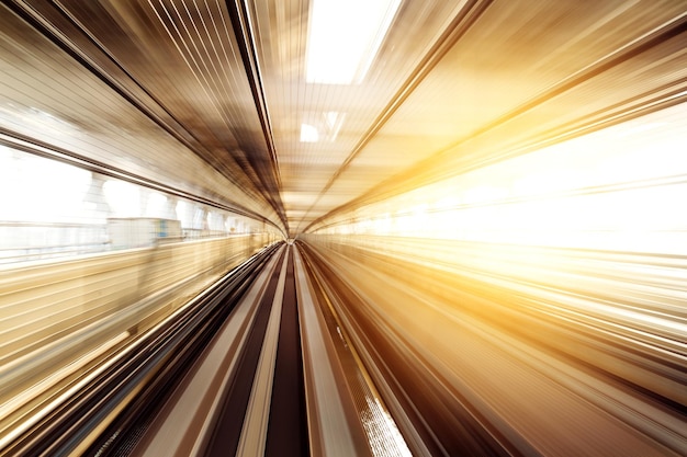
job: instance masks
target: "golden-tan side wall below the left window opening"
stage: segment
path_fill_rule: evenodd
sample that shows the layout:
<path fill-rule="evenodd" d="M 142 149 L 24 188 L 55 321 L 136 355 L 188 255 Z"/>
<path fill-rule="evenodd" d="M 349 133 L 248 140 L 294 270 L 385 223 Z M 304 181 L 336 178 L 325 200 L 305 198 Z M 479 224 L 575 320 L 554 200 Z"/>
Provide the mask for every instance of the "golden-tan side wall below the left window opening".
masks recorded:
<path fill-rule="evenodd" d="M 0 270 L 0 437 L 136 333 L 275 241 L 254 233 Z"/>

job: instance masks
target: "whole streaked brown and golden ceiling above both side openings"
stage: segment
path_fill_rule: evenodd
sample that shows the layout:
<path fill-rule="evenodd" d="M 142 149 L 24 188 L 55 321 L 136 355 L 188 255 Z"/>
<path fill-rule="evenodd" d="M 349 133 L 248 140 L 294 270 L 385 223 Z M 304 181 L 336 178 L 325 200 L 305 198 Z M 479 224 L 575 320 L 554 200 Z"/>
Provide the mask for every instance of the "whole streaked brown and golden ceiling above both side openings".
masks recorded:
<path fill-rule="evenodd" d="M 76 126 L 46 144 L 292 235 L 685 99 L 683 1 L 358 3 L 337 16 L 345 45 L 320 46 L 324 69 L 309 33 L 338 25 L 305 0 L 13 2 L 5 41 L 25 56 L 15 70 L 33 69 L 27 88 L 59 95 L 41 110 Z M 347 49 L 361 46 L 349 75 Z M 5 111 L 27 96 L 15 90 Z"/>

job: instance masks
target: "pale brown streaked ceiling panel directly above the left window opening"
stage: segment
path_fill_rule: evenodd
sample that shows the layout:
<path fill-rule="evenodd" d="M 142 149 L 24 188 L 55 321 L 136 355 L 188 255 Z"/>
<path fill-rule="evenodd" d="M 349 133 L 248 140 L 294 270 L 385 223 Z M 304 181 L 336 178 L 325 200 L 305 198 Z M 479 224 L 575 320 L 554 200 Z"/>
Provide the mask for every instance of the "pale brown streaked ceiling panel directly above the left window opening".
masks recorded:
<path fill-rule="evenodd" d="M 155 113 L 132 104 L 26 21 L 0 8 L 3 138 L 279 220 L 257 188 L 234 175 L 227 179 Z"/>

